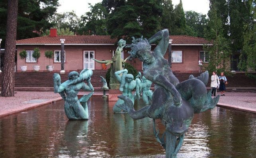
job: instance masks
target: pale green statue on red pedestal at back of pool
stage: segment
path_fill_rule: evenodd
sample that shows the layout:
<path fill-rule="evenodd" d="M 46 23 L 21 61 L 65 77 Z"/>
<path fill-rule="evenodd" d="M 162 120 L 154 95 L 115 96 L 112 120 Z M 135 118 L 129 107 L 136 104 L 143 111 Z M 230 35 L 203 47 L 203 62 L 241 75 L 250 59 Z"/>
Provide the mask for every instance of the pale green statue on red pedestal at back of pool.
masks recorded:
<path fill-rule="evenodd" d="M 126 41 L 123 39 L 120 39 L 117 43 L 117 49 L 115 51 L 115 54 L 113 55 L 111 60 L 105 60 L 105 61 L 100 61 L 100 60 L 95 60 L 96 62 L 102 63 L 102 64 L 111 64 L 111 71 L 110 71 L 110 80 L 109 80 L 109 86 L 110 89 L 119 89 L 119 81 L 115 78 L 115 72 L 119 70 L 123 70 L 124 68 L 124 60 L 121 58 L 121 52 L 123 51 L 123 47 L 125 47 Z"/>

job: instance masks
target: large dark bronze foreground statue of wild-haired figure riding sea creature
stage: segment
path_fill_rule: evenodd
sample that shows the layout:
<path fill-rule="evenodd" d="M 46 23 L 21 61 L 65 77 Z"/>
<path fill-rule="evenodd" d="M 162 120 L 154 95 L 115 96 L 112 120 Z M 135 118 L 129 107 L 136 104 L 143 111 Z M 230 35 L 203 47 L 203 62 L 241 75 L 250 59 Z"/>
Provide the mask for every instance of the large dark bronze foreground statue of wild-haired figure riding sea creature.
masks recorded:
<path fill-rule="evenodd" d="M 143 62 L 143 74 L 147 80 L 154 82 L 155 90 L 152 103 L 137 111 L 133 101 L 126 96 L 118 96 L 125 103 L 118 105 L 128 112 L 133 119 L 150 117 L 153 119 L 153 131 L 156 139 L 166 149 L 166 158 L 176 158 L 182 146 L 185 132 L 191 124 L 194 113 L 213 109 L 219 101 L 219 96 L 211 98 L 211 92 L 206 91 L 205 82 L 208 72 L 196 78 L 179 82 L 164 59 L 169 41 L 167 29 L 157 32 L 149 40 L 135 39 L 129 46 L 129 59 L 139 58 Z M 154 51 L 150 51 L 152 43 L 159 42 Z M 202 82 L 203 81 L 203 82 Z M 154 119 L 161 119 L 166 127 L 162 138 L 155 129 Z M 165 136 L 165 140 L 164 140 Z"/>

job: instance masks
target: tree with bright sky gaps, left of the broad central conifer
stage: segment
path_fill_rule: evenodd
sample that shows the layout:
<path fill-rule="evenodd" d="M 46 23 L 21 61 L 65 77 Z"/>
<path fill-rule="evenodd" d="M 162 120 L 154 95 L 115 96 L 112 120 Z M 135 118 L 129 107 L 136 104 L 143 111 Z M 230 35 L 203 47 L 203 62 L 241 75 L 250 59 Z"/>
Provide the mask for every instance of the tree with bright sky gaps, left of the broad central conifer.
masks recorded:
<path fill-rule="evenodd" d="M 90 12 L 81 16 L 78 33 L 80 35 L 107 35 L 107 9 L 102 3 L 96 3 L 94 6 L 90 5 L 89 8 Z"/>

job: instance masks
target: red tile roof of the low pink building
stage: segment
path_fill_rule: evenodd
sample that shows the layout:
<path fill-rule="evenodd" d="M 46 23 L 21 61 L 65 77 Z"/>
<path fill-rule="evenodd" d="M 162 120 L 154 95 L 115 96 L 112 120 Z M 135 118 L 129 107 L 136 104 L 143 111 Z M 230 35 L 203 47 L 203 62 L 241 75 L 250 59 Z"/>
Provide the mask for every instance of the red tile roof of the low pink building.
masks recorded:
<path fill-rule="evenodd" d="M 199 37 L 191 37 L 186 35 L 170 36 L 174 45 L 202 45 L 210 44 L 209 41 Z M 111 39 L 108 35 L 60 35 L 57 37 L 35 37 L 29 39 L 21 39 L 16 44 L 61 44 L 60 39 L 65 39 L 65 44 L 114 44 L 116 39 Z"/>

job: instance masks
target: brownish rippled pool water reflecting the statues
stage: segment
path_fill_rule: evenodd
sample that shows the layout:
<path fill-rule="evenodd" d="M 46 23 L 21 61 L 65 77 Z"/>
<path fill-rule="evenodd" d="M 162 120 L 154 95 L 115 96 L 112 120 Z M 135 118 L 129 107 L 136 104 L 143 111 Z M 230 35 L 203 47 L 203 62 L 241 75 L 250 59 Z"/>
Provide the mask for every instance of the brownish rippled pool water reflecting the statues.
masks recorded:
<path fill-rule="evenodd" d="M 0 119 L 0 158 L 163 158 L 152 119 L 113 114 L 114 103 L 88 101 L 88 121 L 68 121 L 64 101 Z M 142 104 L 142 103 L 141 103 Z M 140 108 L 142 105 L 135 105 Z M 157 128 L 164 127 L 157 121 Z M 179 158 L 256 157 L 256 115 L 215 107 L 195 114 Z"/>

